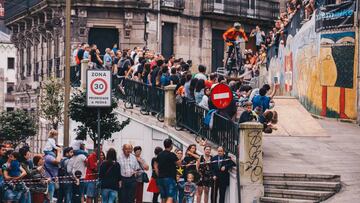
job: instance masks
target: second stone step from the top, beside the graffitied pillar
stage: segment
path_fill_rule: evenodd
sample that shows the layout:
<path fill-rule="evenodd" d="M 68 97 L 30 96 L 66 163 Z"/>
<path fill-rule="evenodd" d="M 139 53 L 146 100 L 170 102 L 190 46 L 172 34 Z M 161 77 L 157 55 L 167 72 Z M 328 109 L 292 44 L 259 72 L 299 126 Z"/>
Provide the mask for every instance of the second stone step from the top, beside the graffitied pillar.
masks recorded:
<path fill-rule="evenodd" d="M 339 192 L 340 182 L 311 182 L 311 181 L 273 181 L 265 180 L 265 188 L 290 189 L 290 190 L 314 190 Z"/>

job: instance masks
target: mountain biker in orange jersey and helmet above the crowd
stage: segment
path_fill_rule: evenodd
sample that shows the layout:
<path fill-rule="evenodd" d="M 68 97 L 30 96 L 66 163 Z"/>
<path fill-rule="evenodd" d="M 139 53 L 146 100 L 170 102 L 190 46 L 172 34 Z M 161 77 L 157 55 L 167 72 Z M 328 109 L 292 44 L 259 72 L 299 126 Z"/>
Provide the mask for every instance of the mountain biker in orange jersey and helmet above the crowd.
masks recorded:
<path fill-rule="evenodd" d="M 227 62 L 228 59 L 231 57 L 231 54 L 234 51 L 234 47 L 236 48 L 237 60 L 241 60 L 240 47 L 235 46 L 235 42 L 238 39 L 238 37 L 242 37 L 245 40 L 245 42 L 248 41 L 246 33 L 244 32 L 244 29 L 242 28 L 241 24 L 239 22 L 236 22 L 234 23 L 234 27 L 228 29 L 223 34 L 223 39 L 226 42 L 227 46 L 229 47 L 227 52 L 228 53 L 227 60 L 225 62 Z M 225 64 L 225 67 L 227 67 L 227 64 Z"/>

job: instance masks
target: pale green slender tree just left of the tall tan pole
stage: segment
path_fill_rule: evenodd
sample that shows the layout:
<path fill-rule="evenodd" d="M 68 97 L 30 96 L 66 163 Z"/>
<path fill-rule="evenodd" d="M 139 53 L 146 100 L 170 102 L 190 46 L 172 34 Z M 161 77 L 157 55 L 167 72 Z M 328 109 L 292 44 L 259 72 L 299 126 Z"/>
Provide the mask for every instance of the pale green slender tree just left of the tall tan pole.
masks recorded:
<path fill-rule="evenodd" d="M 56 78 L 47 80 L 42 85 L 41 116 L 48 120 L 54 129 L 62 122 L 64 112 L 64 86 Z"/>

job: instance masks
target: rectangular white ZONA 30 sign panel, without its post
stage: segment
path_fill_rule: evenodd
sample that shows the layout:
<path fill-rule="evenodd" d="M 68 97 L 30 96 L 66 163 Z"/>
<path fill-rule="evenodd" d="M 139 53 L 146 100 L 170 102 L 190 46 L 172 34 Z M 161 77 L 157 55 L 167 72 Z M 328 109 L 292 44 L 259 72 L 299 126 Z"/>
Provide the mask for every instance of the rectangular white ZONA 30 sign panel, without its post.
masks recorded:
<path fill-rule="evenodd" d="M 89 107 L 111 106 L 111 72 L 107 70 L 87 71 L 86 104 Z"/>

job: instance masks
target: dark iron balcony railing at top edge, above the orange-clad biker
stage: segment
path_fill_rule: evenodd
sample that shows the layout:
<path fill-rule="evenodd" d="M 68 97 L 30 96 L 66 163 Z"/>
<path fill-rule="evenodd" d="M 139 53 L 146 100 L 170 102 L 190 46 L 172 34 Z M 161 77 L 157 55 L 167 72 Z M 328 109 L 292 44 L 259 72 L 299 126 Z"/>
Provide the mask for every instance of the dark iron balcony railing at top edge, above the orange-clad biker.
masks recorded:
<path fill-rule="evenodd" d="M 202 13 L 205 15 L 226 15 L 234 17 L 273 20 L 279 16 L 279 3 L 271 0 L 258 0 L 255 5 L 249 5 L 245 0 L 204 0 Z"/>

